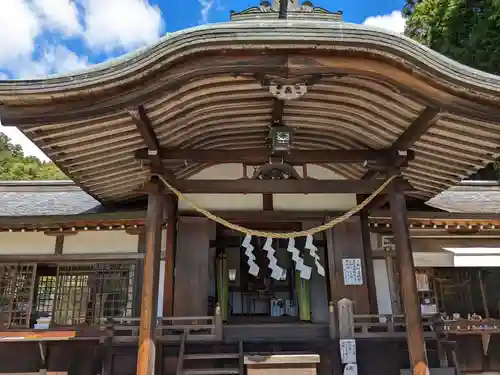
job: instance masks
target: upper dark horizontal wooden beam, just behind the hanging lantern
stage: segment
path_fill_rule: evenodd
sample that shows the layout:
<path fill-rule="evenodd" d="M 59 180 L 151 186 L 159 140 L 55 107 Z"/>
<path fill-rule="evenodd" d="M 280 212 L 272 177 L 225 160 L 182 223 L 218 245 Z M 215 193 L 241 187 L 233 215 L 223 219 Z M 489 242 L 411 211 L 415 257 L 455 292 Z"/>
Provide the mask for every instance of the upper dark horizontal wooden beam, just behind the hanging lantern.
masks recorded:
<path fill-rule="evenodd" d="M 159 149 L 162 160 L 190 161 L 194 163 L 246 163 L 262 164 L 269 161 L 269 148 L 239 149 L 239 150 L 197 150 L 197 149 Z M 147 162 L 150 155 L 147 149 L 135 152 L 137 160 Z M 392 150 L 292 150 L 284 157 L 288 164 L 345 164 L 364 163 L 372 161 L 378 164 L 391 164 L 397 158 Z"/>

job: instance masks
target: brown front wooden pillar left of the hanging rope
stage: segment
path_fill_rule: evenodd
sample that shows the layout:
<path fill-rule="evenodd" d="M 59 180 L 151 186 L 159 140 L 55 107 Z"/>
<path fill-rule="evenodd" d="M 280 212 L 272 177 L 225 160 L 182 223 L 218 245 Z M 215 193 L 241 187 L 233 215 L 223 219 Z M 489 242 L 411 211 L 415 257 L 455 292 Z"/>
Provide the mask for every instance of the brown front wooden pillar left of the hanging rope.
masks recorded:
<path fill-rule="evenodd" d="M 154 330 L 158 307 L 163 207 L 159 183 L 153 179 L 150 184 L 146 217 L 146 254 L 144 257 L 137 375 L 153 375 L 156 356 Z"/>

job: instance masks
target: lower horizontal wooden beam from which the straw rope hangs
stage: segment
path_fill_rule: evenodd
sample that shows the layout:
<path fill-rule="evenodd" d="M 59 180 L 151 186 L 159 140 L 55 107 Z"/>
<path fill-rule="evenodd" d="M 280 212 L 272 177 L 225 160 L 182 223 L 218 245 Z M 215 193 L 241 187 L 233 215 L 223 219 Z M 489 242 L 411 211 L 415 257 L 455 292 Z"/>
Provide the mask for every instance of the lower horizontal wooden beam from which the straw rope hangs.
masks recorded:
<path fill-rule="evenodd" d="M 382 180 L 177 180 L 184 194 L 370 194 Z M 414 190 L 405 183 L 407 190 Z"/>

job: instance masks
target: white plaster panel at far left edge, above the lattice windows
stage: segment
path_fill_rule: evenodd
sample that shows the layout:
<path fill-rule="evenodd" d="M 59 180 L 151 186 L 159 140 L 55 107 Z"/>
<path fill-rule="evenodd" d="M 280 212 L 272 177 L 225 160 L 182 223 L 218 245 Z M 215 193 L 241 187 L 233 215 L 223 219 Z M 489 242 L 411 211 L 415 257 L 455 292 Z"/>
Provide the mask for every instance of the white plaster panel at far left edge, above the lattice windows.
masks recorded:
<path fill-rule="evenodd" d="M 0 255 L 54 254 L 56 238 L 41 232 L 0 233 Z"/>

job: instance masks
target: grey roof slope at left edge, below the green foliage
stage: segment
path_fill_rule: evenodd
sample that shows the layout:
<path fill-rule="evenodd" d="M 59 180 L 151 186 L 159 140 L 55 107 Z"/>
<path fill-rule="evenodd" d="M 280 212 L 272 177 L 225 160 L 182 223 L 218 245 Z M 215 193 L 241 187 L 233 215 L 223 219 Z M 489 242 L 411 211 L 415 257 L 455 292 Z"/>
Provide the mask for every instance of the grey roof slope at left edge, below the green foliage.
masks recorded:
<path fill-rule="evenodd" d="M 0 181 L 0 216 L 77 215 L 102 205 L 72 181 Z"/>

